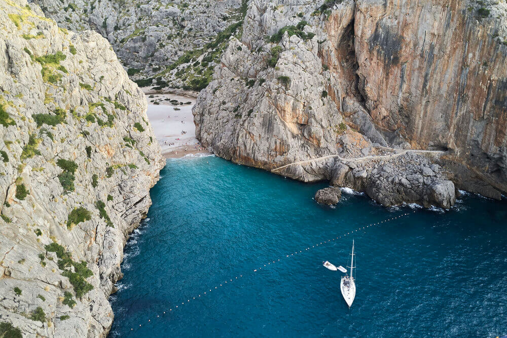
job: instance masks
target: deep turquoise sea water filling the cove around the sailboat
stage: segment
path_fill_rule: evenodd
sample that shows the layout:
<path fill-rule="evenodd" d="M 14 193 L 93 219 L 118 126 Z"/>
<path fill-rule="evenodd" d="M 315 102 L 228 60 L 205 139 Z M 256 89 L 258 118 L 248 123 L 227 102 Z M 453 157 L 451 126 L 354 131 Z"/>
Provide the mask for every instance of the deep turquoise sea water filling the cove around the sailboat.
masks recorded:
<path fill-rule="evenodd" d="M 168 160 L 161 177 L 125 247 L 112 337 L 507 334 L 505 200 L 442 212 L 344 194 L 331 208 L 312 200 L 325 183 L 216 157 Z M 347 265 L 352 237 L 349 310 L 321 262 Z"/>

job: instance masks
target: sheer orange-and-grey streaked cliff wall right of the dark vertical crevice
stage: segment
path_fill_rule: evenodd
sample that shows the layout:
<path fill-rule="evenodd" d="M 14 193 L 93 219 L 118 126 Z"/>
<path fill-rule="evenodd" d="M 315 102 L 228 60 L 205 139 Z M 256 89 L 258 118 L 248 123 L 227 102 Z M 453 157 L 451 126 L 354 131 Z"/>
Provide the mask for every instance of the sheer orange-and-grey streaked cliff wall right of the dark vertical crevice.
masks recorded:
<path fill-rule="evenodd" d="M 507 4 L 476 3 L 356 2 L 359 90 L 380 128 L 505 193 Z"/>

